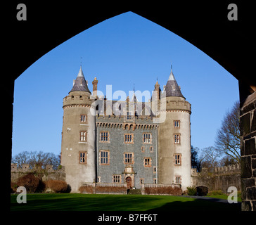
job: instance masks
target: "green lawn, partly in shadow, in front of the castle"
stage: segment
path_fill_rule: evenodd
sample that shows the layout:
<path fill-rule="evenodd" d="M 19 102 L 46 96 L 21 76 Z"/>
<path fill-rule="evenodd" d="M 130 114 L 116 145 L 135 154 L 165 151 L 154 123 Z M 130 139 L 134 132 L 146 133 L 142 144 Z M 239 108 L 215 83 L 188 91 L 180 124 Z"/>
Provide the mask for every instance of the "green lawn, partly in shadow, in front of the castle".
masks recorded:
<path fill-rule="evenodd" d="M 223 210 L 241 211 L 238 204 L 169 195 L 87 195 L 79 193 L 27 194 L 27 203 L 18 204 L 11 195 L 11 211 L 147 211 L 147 210 Z"/>

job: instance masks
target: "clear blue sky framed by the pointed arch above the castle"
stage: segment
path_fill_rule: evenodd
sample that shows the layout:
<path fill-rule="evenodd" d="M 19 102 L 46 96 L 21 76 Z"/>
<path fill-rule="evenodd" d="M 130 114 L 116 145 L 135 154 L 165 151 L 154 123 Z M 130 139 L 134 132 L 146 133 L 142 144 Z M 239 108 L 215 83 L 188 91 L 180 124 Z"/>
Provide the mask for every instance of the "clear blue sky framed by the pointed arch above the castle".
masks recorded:
<path fill-rule="evenodd" d="M 134 13 L 95 25 L 46 53 L 15 80 L 13 155 L 24 150 L 60 153 L 63 98 L 72 89 L 82 57 L 92 91 L 162 89 L 171 63 L 186 101 L 191 103 L 191 144 L 214 146 L 217 129 L 238 101 L 238 80 L 188 41 Z"/>

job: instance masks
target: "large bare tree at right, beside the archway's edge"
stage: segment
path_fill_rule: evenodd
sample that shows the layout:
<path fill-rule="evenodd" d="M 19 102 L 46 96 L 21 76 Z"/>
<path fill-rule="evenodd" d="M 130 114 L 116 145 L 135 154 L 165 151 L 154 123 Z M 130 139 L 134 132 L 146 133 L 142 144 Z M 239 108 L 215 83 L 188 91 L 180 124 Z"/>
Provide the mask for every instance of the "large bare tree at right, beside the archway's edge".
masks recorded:
<path fill-rule="evenodd" d="M 215 140 L 215 146 L 219 153 L 229 155 L 237 163 L 241 162 L 239 116 L 240 105 L 237 101 L 233 108 L 226 113 L 222 121 L 222 127 L 217 130 Z"/>

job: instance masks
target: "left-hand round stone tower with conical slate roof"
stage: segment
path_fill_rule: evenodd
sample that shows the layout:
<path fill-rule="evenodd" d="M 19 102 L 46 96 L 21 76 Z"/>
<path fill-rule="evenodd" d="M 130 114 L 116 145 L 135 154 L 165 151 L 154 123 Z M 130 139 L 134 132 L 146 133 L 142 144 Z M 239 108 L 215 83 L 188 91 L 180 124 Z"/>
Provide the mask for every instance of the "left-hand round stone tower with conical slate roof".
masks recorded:
<path fill-rule="evenodd" d="M 61 165 L 71 192 L 78 192 L 81 182 L 96 179 L 95 116 L 90 108 L 94 102 L 80 67 L 68 96 L 63 98 L 63 129 Z"/>

